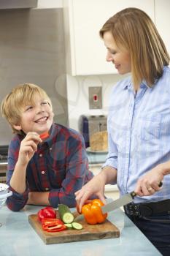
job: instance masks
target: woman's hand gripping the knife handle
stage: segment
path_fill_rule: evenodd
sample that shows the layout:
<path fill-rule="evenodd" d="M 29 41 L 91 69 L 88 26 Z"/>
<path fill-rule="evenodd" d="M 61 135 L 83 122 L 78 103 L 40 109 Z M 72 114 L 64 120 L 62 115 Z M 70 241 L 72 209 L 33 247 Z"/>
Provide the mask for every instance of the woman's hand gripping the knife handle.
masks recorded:
<path fill-rule="evenodd" d="M 152 195 L 162 188 L 159 187 L 162 180 L 163 170 L 161 165 L 157 165 L 144 176 L 139 178 L 134 191 L 136 192 L 136 195 L 139 195 L 140 197 L 144 195 Z"/>

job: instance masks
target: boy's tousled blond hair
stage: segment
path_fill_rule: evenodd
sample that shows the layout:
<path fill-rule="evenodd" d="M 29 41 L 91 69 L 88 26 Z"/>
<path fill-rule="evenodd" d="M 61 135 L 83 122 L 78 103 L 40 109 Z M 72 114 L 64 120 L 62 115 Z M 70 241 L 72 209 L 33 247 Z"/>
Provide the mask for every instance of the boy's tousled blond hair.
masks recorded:
<path fill-rule="evenodd" d="M 24 83 L 16 86 L 2 100 L 1 114 L 7 119 L 14 133 L 22 133 L 13 126 L 20 124 L 20 117 L 23 108 L 26 107 L 26 105 L 34 104 L 35 94 L 39 94 L 44 99 L 47 99 L 47 102 L 52 108 L 51 100 L 47 96 L 46 92 L 41 87 L 36 86 L 33 83 Z"/>

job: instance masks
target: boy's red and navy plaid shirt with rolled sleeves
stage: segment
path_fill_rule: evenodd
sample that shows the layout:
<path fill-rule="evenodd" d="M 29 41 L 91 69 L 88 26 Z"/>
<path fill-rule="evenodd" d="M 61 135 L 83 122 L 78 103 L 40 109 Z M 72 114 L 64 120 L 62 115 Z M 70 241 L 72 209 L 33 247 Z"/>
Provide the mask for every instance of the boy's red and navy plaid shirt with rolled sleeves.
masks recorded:
<path fill-rule="evenodd" d="M 18 161 L 20 142 L 23 136 L 15 135 L 9 145 L 7 184 Z M 21 170 L 22 171 L 22 170 Z M 26 205 L 28 192 L 49 192 L 53 207 L 58 203 L 74 207 L 74 192 L 93 178 L 88 170 L 88 158 L 82 136 L 60 124 L 53 124 L 50 138 L 39 144 L 26 169 L 26 191 L 20 195 L 9 185 L 13 195 L 7 198 L 7 206 L 19 211 Z"/>

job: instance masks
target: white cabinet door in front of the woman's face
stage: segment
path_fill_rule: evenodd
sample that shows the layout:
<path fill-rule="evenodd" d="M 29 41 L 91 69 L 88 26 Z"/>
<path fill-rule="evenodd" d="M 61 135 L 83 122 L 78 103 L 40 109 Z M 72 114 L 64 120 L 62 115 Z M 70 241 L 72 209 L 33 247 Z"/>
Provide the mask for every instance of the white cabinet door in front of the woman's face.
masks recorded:
<path fill-rule="evenodd" d="M 107 50 L 98 31 L 112 15 L 126 7 L 142 9 L 154 20 L 154 0 L 63 0 L 69 75 L 117 73 L 106 61 Z"/>

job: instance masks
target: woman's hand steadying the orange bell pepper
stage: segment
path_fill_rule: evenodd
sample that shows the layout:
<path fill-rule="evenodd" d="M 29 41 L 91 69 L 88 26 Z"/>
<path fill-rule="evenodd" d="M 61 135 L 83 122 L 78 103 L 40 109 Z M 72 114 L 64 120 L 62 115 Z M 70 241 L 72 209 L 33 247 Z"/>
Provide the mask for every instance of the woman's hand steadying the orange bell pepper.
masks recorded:
<path fill-rule="evenodd" d="M 77 206 L 79 206 L 79 211 L 81 212 L 82 206 L 85 204 L 85 201 L 90 198 L 92 195 L 96 195 L 103 203 L 106 203 L 104 198 L 104 186 L 105 179 L 102 173 L 94 176 L 82 189 L 75 192 Z"/>

